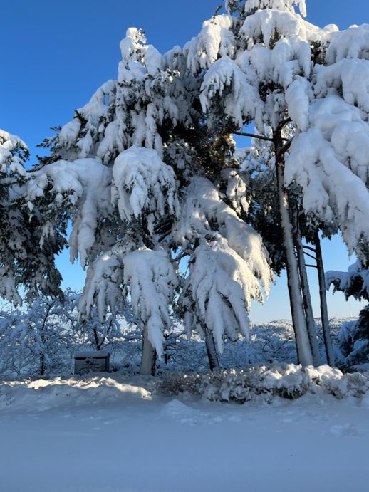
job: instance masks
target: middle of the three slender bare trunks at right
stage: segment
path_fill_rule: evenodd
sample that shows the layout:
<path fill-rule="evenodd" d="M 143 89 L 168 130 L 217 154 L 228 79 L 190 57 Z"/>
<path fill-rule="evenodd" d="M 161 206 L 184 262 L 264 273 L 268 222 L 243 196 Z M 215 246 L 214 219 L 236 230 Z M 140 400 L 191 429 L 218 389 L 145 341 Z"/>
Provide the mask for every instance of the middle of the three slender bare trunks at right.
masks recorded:
<path fill-rule="evenodd" d="M 305 256 L 301 242 L 301 234 L 296 226 L 295 244 L 297 251 L 298 270 L 300 272 L 301 291 L 303 297 L 303 309 L 306 316 L 306 328 L 308 329 L 308 338 L 310 341 L 311 352 L 313 352 L 314 365 L 321 365 L 321 353 L 319 352 L 318 338 L 316 337 L 316 325 L 313 315 L 313 306 L 311 305 L 310 288 L 308 286 L 308 275 L 306 273 Z"/>

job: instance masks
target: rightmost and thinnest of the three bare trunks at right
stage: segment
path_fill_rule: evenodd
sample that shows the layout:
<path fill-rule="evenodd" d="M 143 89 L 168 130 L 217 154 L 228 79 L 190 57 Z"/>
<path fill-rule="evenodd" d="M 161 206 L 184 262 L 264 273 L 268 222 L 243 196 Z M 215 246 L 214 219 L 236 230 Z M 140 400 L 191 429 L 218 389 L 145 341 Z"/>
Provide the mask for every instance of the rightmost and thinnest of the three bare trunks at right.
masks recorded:
<path fill-rule="evenodd" d="M 323 255 L 321 252 L 321 240 L 319 233 L 316 231 L 314 236 L 314 246 L 316 252 L 316 268 L 318 269 L 319 279 L 319 296 L 321 299 L 321 326 L 323 330 L 324 346 L 326 347 L 327 362 L 330 366 L 334 366 L 335 357 L 331 339 L 331 331 L 329 329 L 328 307 L 326 296 L 326 278 L 324 276 Z"/>

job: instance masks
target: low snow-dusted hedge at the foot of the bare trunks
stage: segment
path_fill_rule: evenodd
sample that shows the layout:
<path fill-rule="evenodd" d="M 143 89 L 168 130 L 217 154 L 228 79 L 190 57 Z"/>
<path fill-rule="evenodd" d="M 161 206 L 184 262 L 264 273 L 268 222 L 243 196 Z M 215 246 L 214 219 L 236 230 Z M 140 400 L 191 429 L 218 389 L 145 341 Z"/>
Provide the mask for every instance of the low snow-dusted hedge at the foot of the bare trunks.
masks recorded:
<path fill-rule="evenodd" d="M 270 403 L 274 397 L 298 398 L 312 394 L 331 394 L 336 398 L 361 397 L 369 392 L 369 374 L 343 374 L 336 368 L 301 367 L 281 364 L 246 369 L 217 370 L 199 374 L 167 373 L 162 375 L 160 392 L 189 392 L 211 401 Z"/>

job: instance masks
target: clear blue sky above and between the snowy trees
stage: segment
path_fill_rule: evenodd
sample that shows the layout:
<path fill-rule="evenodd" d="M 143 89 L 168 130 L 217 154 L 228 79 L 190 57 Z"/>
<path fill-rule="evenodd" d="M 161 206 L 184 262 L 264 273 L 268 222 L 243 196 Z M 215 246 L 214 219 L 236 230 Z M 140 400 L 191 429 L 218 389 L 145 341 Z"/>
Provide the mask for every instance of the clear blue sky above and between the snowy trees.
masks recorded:
<path fill-rule="evenodd" d="M 1 5 L 0 127 L 19 135 L 35 162 L 36 144 L 63 125 L 105 80 L 116 78 L 119 41 L 130 26 L 145 28 L 160 51 L 182 46 L 197 34 L 222 0 L 12 0 Z M 347 28 L 369 22 L 368 0 L 310 0 L 308 21 Z M 326 269 L 349 264 L 340 239 L 323 245 Z M 78 266 L 68 266 L 68 253 L 58 264 L 64 283 L 83 286 Z M 311 276 L 314 311 L 318 312 L 316 280 Z M 356 315 L 360 303 L 329 296 L 331 316 Z M 255 306 L 252 320 L 290 318 L 286 281 L 282 277 L 264 307 Z"/>

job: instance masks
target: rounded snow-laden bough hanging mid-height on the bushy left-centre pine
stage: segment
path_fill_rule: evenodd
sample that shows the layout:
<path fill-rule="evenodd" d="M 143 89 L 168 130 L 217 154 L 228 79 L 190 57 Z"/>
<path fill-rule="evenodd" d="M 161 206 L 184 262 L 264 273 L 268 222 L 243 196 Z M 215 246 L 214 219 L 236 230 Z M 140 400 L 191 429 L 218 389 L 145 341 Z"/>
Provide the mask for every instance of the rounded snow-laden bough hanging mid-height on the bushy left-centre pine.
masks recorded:
<path fill-rule="evenodd" d="M 120 217 L 130 221 L 145 211 L 152 232 L 155 220 L 177 214 L 177 183 L 172 167 L 155 150 L 130 147 L 115 159 L 113 202 L 118 201 Z"/>

